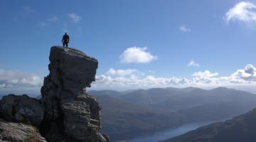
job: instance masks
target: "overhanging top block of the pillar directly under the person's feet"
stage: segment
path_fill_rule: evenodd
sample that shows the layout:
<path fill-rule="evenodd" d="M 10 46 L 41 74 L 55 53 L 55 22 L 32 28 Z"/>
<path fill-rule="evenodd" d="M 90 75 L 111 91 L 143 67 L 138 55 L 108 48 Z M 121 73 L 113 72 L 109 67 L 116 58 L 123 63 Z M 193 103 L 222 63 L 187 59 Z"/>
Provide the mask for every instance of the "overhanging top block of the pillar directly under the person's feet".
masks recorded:
<path fill-rule="evenodd" d="M 95 81 L 98 62 L 80 50 L 53 46 L 49 59 L 50 78 L 55 84 L 62 83 L 63 89 L 73 94 L 80 94 Z"/>

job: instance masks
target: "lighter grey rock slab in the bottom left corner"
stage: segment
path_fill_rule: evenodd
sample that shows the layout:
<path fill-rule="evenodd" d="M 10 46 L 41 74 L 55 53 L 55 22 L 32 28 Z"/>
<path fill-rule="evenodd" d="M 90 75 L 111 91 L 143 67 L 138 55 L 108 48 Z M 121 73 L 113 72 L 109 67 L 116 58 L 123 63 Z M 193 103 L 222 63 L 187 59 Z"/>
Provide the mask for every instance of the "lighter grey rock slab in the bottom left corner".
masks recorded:
<path fill-rule="evenodd" d="M 0 141 L 4 142 L 46 142 L 33 126 L 0 119 Z"/>

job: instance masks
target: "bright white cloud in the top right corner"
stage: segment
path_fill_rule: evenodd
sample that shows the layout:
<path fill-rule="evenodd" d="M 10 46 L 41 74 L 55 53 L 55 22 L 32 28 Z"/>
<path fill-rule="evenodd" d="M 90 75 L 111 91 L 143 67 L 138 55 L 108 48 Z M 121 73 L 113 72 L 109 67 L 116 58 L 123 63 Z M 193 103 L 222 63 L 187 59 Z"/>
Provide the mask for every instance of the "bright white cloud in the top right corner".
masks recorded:
<path fill-rule="evenodd" d="M 226 21 L 256 21 L 256 5 L 249 1 L 241 1 L 225 13 Z"/>

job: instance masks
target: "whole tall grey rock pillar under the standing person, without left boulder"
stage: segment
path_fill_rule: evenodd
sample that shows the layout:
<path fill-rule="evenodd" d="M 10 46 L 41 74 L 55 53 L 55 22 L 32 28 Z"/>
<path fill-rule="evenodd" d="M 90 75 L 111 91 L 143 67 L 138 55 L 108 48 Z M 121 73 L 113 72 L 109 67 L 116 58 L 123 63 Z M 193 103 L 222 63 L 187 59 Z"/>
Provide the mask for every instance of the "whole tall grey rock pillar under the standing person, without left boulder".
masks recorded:
<path fill-rule="evenodd" d="M 97 60 L 79 50 L 54 46 L 50 50 L 50 74 L 41 88 L 46 106 L 46 121 L 63 121 L 63 136 L 58 141 L 105 142 L 100 127 L 100 105 L 85 94 L 85 87 L 95 81 Z M 58 124 L 50 124 L 56 129 Z M 53 139 L 54 131 L 46 134 Z"/>

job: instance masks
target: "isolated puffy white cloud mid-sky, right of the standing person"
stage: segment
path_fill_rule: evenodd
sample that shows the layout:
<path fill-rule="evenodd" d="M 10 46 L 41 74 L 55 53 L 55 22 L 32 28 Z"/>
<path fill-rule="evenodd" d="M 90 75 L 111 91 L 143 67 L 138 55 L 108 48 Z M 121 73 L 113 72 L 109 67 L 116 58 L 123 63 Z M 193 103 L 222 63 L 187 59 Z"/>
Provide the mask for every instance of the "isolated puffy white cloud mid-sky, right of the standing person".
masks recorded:
<path fill-rule="evenodd" d="M 146 51 L 147 48 L 131 47 L 124 50 L 119 59 L 124 63 L 147 63 L 156 60 L 157 56 Z"/>

